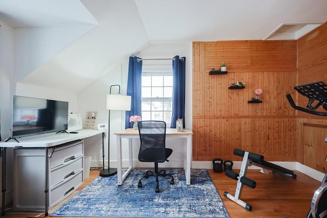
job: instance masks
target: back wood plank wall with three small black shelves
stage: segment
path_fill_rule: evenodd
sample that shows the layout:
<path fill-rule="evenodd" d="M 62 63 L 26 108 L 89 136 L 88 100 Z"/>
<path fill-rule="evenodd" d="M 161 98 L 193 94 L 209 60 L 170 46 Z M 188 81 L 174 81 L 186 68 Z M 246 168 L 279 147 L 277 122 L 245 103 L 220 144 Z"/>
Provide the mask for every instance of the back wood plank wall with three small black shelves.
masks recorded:
<path fill-rule="evenodd" d="M 295 40 L 193 42 L 193 160 L 296 161 L 296 114 L 285 94 L 296 84 Z M 226 63 L 226 75 L 209 75 Z M 229 90 L 243 81 L 245 89 Z M 261 104 L 248 104 L 261 88 Z"/>

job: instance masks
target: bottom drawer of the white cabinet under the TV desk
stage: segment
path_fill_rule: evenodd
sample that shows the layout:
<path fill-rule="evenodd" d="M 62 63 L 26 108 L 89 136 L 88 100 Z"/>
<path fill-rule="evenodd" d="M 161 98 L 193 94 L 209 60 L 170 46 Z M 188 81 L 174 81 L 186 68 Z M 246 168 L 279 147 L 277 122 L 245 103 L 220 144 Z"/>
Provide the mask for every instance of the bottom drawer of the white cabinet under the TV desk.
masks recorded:
<path fill-rule="evenodd" d="M 59 183 L 49 192 L 50 208 L 60 203 L 67 196 L 71 195 L 83 183 L 83 171 L 74 175 L 71 179 Z"/>

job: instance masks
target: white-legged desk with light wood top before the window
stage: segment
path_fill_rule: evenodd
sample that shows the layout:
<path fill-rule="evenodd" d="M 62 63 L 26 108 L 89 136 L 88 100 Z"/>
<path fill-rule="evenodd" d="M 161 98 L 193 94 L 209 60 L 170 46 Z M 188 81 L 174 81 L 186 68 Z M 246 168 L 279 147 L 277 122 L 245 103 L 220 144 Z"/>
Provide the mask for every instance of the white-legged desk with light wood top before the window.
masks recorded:
<path fill-rule="evenodd" d="M 117 176 L 118 185 L 122 185 L 127 175 L 133 169 L 133 151 L 132 151 L 132 138 L 139 138 L 138 130 L 126 129 L 121 132 L 114 133 L 116 135 L 117 146 Z M 177 132 L 176 129 L 166 129 L 166 138 L 185 138 L 186 156 L 184 160 L 184 171 L 186 177 L 186 185 L 191 184 L 191 155 L 192 155 L 192 131 L 184 129 L 182 132 Z M 128 153 L 129 153 L 129 167 L 127 171 L 122 173 L 122 138 L 128 139 Z"/>

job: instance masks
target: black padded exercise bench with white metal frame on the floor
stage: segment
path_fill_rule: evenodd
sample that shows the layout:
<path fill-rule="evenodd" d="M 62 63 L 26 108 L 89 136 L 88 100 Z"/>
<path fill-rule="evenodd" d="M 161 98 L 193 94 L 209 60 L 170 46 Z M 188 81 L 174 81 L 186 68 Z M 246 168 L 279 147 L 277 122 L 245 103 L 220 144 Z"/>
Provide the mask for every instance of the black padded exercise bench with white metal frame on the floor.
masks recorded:
<path fill-rule="evenodd" d="M 227 191 L 224 192 L 224 196 L 226 198 L 232 200 L 233 202 L 241 205 L 248 211 L 252 210 L 252 206 L 241 200 L 242 188 L 243 188 L 243 185 L 246 185 L 250 188 L 255 188 L 255 186 L 256 186 L 255 181 L 246 177 L 246 171 L 249 166 L 251 166 L 251 165 L 259 166 L 259 167 L 262 167 L 263 169 L 265 169 L 266 171 L 269 169 L 278 174 L 287 175 L 292 178 L 296 178 L 296 175 L 293 173 L 293 171 L 291 171 L 287 168 L 284 168 L 282 166 L 278 166 L 276 164 L 265 161 L 264 156 L 262 156 L 262 155 L 254 154 L 254 153 L 243 151 L 240 149 L 234 149 L 233 154 L 243 157 L 243 161 L 242 161 L 242 165 L 241 165 L 241 169 L 240 169 L 240 174 L 230 171 L 229 169 L 226 170 L 226 172 L 225 172 L 226 176 L 228 176 L 234 180 L 237 180 L 237 185 L 236 185 L 235 196 L 231 195 Z"/>

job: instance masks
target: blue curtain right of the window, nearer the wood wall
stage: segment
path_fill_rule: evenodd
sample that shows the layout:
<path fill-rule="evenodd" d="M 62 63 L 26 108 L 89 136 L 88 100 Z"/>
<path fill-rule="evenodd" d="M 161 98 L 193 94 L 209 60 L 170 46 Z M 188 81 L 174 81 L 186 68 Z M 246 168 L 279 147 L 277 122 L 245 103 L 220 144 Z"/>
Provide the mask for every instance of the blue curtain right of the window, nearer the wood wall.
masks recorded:
<path fill-rule="evenodd" d="M 186 59 L 175 56 L 173 60 L 173 105 L 170 128 L 176 128 L 176 120 L 183 119 L 185 128 L 185 64 Z"/>

